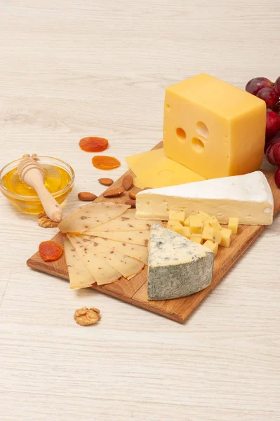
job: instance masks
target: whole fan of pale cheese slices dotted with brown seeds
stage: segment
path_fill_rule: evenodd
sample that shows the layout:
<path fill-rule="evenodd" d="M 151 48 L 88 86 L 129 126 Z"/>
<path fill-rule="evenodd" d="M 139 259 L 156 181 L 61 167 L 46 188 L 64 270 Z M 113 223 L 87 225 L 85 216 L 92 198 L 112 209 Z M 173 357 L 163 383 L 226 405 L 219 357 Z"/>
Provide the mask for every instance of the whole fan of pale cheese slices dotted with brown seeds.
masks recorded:
<path fill-rule="evenodd" d="M 153 221 L 137 220 L 135 209 L 121 203 L 90 203 L 74 210 L 59 229 L 64 238 L 71 288 L 131 279 L 148 262 Z"/>

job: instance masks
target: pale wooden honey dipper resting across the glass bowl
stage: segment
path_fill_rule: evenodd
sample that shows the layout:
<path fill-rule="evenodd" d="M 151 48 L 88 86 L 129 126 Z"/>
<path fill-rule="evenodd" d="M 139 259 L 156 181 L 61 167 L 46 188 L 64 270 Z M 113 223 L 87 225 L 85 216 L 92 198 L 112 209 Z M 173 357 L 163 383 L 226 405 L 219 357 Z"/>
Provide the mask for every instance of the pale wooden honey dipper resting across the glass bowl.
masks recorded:
<path fill-rule="evenodd" d="M 28 155 L 23 156 L 18 166 L 18 175 L 22 181 L 36 190 L 48 218 L 55 222 L 60 222 L 62 220 L 62 210 L 44 185 L 44 170 L 36 160 L 35 154 L 32 157 Z"/>

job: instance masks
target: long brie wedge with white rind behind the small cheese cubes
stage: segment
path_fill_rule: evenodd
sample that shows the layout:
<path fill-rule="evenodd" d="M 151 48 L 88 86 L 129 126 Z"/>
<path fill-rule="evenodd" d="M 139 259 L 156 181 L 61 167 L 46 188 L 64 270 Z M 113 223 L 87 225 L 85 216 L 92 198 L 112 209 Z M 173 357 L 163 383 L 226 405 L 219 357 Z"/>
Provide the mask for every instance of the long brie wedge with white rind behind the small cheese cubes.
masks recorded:
<path fill-rule="evenodd" d="M 261 171 L 148 189 L 136 195 L 136 217 L 143 219 L 168 220 L 169 210 L 185 210 L 186 217 L 204 210 L 222 223 L 234 215 L 241 225 L 270 225 L 273 209 L 272 191 Z"/>

